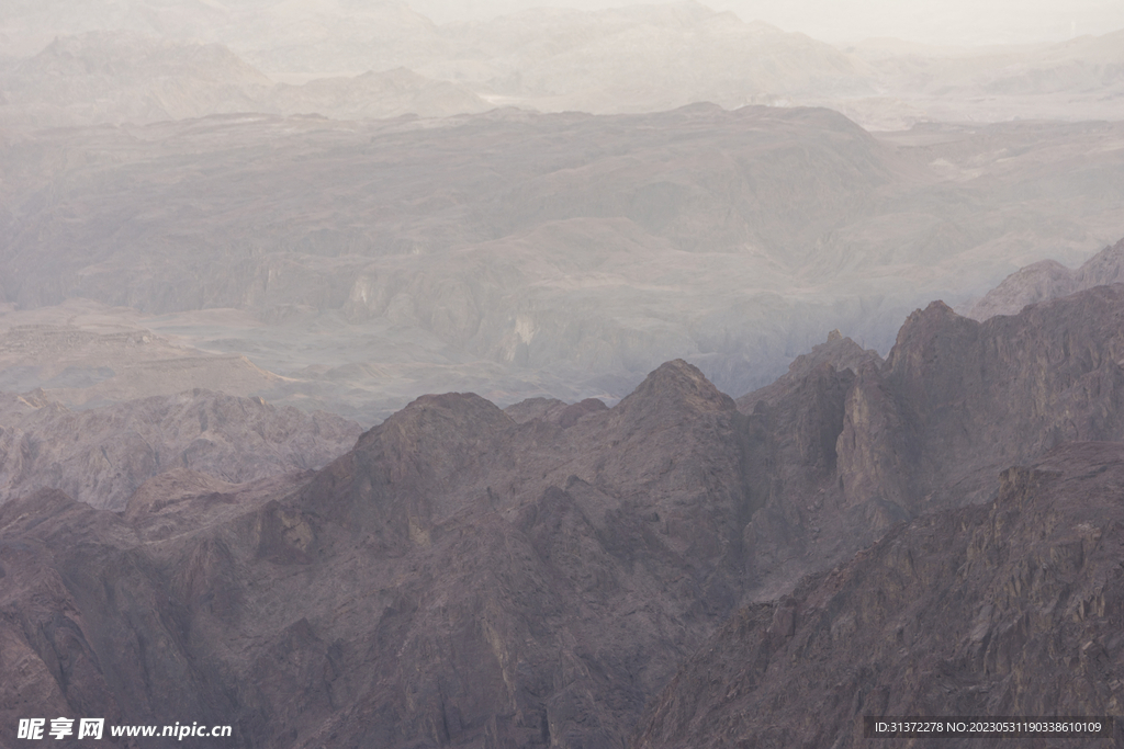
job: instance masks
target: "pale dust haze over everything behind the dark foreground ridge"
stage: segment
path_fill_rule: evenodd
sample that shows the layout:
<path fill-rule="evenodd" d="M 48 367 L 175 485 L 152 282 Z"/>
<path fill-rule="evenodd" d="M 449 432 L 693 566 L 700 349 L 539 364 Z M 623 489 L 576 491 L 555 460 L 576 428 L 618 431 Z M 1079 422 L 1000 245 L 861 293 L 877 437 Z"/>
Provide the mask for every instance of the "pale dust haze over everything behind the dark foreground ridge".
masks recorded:
<path fill-rule="evenodd" d="M 100 305 L 245 368 L 200 385 L 370 424 L 674 357 L 740 394 L 1118 238 L 1120 9 L 891 4 L 9 4 L 0 326 Z M 78 408 L 165 360 L 0 350 Z"/>

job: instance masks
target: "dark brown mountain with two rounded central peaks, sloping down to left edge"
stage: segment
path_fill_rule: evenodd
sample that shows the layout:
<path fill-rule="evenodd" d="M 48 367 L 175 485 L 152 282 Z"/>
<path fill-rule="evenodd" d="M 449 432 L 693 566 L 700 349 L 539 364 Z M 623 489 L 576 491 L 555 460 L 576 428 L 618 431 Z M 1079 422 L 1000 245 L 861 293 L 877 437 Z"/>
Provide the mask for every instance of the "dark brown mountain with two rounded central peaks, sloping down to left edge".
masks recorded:
<path fill-rule="evenodd" d="M 44 665 L 16 693 L 64 710 L 106 692 L 91 704 L 123 720 L 194 710 L 243 746 L 619 743 L 738 599 L 743 421 L 677 362 L 611 410 L 522 424 L 475 395 L 425 396 L 271 491 L 180 473 L 124 515 L 9 502 L 4 539 L 31 550 L 0 556 L 9 610 L 47 569 L 43 621 L 82 632 L 63 683 Z M 136 610 L 89 593 L 103 554 L 133 560 L 151 592 L 128 593 Z M 49 638 L 20 631 L 4 637 L 47 664 Z M 164 645 L 99 670 L 108 641 Z M 126 683 L 143 694 L 106 686 Z"/>

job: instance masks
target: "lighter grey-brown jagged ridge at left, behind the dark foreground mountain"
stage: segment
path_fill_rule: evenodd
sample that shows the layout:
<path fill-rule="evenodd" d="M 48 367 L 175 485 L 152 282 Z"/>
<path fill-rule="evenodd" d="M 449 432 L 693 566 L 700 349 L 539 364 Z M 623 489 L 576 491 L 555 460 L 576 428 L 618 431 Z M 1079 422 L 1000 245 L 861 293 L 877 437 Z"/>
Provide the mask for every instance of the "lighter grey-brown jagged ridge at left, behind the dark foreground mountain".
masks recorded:
<path fill-rule="evenodd" d="M 169 469 L 239 484 L 320 468 L 361 431 L 323 411 L 201 390 L 85 411 L 42 391 L 0 392 L 0 502 L 53 488 L 124 510 L 137 487 Z"/>

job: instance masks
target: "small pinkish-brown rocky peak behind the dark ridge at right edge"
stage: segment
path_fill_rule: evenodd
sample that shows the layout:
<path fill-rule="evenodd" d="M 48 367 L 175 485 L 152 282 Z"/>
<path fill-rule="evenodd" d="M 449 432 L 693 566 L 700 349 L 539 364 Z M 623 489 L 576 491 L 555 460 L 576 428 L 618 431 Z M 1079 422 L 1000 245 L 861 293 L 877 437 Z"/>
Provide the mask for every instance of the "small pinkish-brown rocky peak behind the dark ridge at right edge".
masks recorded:
<path fill-rule="evenodd" d="M 980 321 L 996 314 L 1016 314 L 1027 304 L 1122 281 L 1124 239 L 1112 247 L 1105 247 L 1076 270 L 1057 261 L 1039 261 L 1019 268 L 976 301 L 964 314 Z"/>

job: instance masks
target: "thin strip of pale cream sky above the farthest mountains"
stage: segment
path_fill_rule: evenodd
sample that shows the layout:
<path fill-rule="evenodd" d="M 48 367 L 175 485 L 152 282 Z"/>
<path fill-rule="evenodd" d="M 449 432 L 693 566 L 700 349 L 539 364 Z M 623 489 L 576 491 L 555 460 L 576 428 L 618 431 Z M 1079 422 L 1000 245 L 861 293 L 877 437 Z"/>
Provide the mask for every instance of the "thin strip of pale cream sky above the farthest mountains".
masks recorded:
<path fill-rule="evenodd" d="M 408 0 L 437 22 L 541 6 L 584 10 L 635 0 Z M 1124 28 L 1124 0 L 705 0 L 743 20 L 763 20 L 831 43 L 894 36 L 927 44 L 1024 44 L 1099 36 Z"/>

